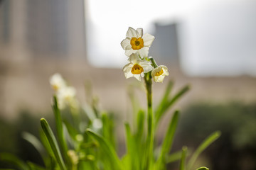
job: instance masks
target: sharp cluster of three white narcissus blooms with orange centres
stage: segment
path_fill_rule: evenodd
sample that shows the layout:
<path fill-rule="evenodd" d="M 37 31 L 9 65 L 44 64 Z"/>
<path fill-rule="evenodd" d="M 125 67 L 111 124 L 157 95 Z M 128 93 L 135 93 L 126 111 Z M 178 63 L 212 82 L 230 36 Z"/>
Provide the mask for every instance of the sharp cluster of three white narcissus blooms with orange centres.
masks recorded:
<path fill-rule="evenodd" d="M 163 82 L 164 77 L 169 75 L 166 66 L 157 66 L 153 57 L 148 57 L 149 47 L 153 41 L 154 36 L 148 33 L 143 34 L 142 28 L 137 30 L 128 28 L 126 38 L 121 42 L 129 61 L 123 68 L 126 79 L 135 77 L 141 81 L 145 73 L 151 72 L 154 81 Z"/>

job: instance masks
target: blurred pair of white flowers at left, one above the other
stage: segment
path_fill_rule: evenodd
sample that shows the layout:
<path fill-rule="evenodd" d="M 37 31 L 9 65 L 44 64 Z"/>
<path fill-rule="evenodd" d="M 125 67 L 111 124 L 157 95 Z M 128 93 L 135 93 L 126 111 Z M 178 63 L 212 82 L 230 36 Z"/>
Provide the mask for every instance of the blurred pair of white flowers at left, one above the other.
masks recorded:
<path fill-rule="evenodd" d="M 50 85 L 55 91 L 59 108 L 63 109 L 67 105 L 71 107 L 75 107 L 77 105 L 77 101 L 75 99 L 75 88 L 73 86 L 68 86 L 60 74 L 55 73 L 50 77 Z"/>

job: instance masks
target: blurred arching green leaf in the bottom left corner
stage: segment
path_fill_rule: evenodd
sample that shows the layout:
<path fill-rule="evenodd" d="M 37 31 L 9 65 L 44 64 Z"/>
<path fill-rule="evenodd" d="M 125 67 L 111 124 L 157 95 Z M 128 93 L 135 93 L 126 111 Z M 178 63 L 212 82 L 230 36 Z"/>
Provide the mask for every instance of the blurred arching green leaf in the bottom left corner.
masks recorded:
<path fill-rule="evenodd" d="M 18 169 L 29 170 L 28 165 L 26 163 L 24 163 L 23 161 L 21 161 L 21 159 L 16 157 L 14 154 L 1 153 L 0 160 L 3 162 L 9 162 L 10 164 L 16 166 Z"/>

